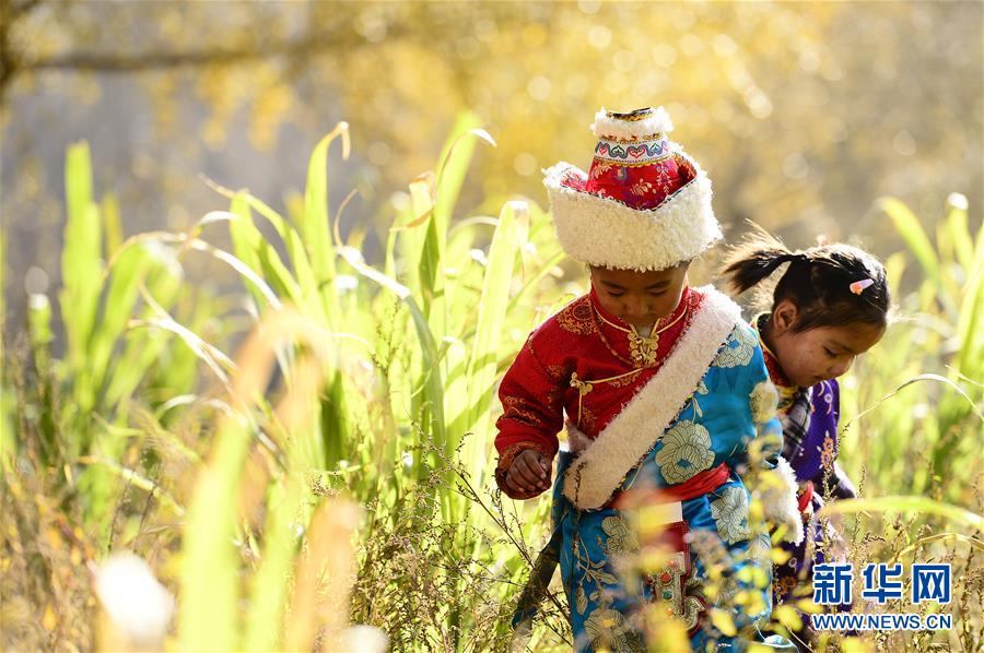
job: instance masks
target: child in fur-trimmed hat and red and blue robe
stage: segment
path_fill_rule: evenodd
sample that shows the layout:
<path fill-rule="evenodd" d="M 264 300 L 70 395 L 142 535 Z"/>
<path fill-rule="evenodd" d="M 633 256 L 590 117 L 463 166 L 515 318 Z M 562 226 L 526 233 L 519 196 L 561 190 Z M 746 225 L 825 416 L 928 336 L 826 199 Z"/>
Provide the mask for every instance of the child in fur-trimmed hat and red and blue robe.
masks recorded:
<path fill-rule="evenodd" d="M 559 565 L 577 651 L 645 650 L 658 636 L 644 625 L 654 601 L 686 624 L 695 649 L 738 649 L 761 641 L 755 628 L 771 610 L 769 535 L 750 520 L 745 477 L 755 449 L 775 464 L 775 389 L 738 307 L 688 287 L 689 262 L 721 231 L 710 180 L 667 140 L 665 111 L 602 109 L 594 129 L 590 173 L 561 164 L 544 181 L 561 245 L 589 266 L 591 290 L 530 334 L 500 388 L 503 491 L 544 491 L 559 458 L 552 536 L 514 626 L 528 627 Z M 771 450 L 757 447 L 765 439 Z M 787 495 L 765 507 L 784 513 L 769 517 L 798 532 L 795 488 L 778 485 Z M 658 514 L 668 555 L 633 574 L 620 562 L 644 544 L 630 511 L 640 506 L 655 508 L 648 525 Z M 735 631 L 711 624 L 712 606 Z"/>

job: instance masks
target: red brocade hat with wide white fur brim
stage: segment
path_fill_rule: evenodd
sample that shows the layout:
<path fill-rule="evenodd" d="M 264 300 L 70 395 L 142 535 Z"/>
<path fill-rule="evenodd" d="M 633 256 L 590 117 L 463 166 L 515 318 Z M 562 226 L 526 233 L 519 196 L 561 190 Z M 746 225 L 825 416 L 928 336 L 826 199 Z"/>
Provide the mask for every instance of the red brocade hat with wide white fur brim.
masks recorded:
<path fill-rule="evenodd" d="M 595 116 L 590 170 L 561 162 L 543 185 L 561 247 L 571 258 L 619 270 L 664 270 L 722 238 L 711 179 L 667 138 L 663 107 Z"/>

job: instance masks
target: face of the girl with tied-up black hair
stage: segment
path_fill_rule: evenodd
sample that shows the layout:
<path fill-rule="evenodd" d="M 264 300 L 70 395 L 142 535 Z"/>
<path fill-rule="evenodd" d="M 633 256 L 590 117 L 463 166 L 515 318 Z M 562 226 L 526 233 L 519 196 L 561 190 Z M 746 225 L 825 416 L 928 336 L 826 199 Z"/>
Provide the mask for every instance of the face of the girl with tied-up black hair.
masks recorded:
<path fill-rule="evenodd" d="M 788 300 L 773 309 L 770 347 L 789 381 L 801 388 L 842 376 L 885 335 L 885 326 L 865 323 L 794 332 L 795 319 L 796 308 Z"/>

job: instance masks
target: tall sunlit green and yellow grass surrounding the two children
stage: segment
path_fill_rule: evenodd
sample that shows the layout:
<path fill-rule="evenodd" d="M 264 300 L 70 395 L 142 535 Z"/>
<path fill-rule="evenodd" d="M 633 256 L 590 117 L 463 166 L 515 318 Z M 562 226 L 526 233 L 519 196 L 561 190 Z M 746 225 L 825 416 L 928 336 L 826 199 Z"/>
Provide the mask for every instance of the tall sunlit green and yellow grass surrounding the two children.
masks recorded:
<path fill-rule="evenodd" d="M 215 186 L 221 210 L 186 233 L 125 238 L 87 146 L 69 150 L 65 284 L 3 340 L 4 649 L 329 651 L 379 634 L 352 625 L 393 650 L 509 648 L 549 498 L 494 489 L 496 383 L 586 286 L 534 202 L 456 207 L 485 146 L 461 116 L 379 247 L 342 233 L 351 197 L 328 198 L 344 123 L 285 214 Z M 830 642 L 843 650 L 984 645 L 984 231 L 969 209 L 957 194 L 935 216 L 872 202 L 907 248 L 886 261 L 894 322 L 842 383 L 840 464 L 862 498 L 832 515 L 856 567 L 950 561 L 954 628 Z M 189 282 L 192 258 L 239 289 Z M 174 605 L 127 605 L 132 587 L 101 566 L 126 551 Z M 571 648 L 557 590 L 532 650 Z M 792 606 L 775 619 L 798 622 Z M 658 645 L 680 642 L 668 630 Z"/>

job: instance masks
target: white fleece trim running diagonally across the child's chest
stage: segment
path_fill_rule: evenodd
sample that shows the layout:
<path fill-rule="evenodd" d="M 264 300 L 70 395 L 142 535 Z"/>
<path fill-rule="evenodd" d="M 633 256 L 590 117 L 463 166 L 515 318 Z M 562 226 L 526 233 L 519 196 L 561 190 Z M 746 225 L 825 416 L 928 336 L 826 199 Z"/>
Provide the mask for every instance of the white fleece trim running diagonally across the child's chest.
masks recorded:
<path fill-rule="evenodd" d="M 625 475 L 652 450 L 676 419 L 731 331 L 741 309 L 711 286 L 690 328 L 646 383 L 564 474 L 564 496 L 582 510 L 604 506 Z"/>

